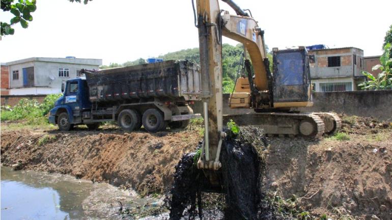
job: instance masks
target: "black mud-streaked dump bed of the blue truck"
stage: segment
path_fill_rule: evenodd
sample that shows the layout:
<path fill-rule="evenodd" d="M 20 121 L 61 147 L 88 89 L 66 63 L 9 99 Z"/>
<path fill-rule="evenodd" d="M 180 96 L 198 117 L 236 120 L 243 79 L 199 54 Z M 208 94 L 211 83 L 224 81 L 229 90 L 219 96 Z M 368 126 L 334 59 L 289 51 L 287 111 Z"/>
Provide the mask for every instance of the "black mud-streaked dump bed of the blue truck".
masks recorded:
<path fill-rule="evenodd" d="M 94 102 L 152 97 L 199 100 L 200 67 L 189 61 L 163 61 L 130 67 L 85 71 Z"/>

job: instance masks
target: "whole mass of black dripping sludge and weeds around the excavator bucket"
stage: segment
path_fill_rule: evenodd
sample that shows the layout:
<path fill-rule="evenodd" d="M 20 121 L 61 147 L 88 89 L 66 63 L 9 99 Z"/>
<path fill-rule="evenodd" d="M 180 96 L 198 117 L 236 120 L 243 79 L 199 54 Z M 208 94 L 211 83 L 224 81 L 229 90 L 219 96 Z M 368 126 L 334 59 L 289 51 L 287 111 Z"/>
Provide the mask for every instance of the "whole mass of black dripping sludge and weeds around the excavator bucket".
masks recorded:
<path fill-rule="evenodd" d="M 195 166 L 195 153 L 185 154 L 176 166 L 168 198 L 170 218 L 279 219 L 263 191 L 266 146 L 264 133 L 256 127 L 241 127 L 238 135 L 228 135 L 220 154 L 222 168 L 216 172 L 220 179 L 218 194 L 205 192 L 213 188 L 205 171 Z"/>

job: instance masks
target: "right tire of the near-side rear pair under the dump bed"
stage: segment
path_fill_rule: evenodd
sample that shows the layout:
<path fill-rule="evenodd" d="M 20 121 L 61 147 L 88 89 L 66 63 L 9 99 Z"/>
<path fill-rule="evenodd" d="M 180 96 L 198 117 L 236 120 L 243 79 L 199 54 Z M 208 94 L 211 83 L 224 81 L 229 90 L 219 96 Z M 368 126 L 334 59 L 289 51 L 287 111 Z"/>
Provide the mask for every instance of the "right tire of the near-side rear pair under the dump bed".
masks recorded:
<path fill-rule="evenodd" d="M 148 132 L 157 132 L 164 128 L 163 114 L 155 108 L 147 109 L 142 118 L 143 126 Z"/>

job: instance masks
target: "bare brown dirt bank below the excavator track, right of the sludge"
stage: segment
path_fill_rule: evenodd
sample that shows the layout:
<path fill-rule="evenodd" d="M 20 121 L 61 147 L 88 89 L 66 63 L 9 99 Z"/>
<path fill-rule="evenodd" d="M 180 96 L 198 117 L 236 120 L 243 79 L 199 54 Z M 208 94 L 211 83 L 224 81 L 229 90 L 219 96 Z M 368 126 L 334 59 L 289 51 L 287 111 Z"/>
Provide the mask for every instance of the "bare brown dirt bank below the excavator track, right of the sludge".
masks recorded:
<path fill-rule="evenodd" d="M 391 219 L 392 132 L 386 135 L 383 141 L 272 139 L 265 184 L 319 216 Z"/>

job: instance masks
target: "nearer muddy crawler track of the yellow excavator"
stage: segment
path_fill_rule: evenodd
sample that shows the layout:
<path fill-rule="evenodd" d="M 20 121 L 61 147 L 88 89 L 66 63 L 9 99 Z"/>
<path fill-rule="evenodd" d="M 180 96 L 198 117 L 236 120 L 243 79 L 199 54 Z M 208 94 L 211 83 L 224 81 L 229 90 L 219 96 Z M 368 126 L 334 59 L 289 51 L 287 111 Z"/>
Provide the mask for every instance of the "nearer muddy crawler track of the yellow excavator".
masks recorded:
<path fill-rule="evenodd" d="M 322 118 L 313 113 L 225 115 L 223 116 L 223 123 L 226 124 L 230 119 L 240 126 L 259 126 L 264 129 L 267 135 L 302 136 L 309 139 L 319 139 L 325 132 L 325 125 Z"/>

